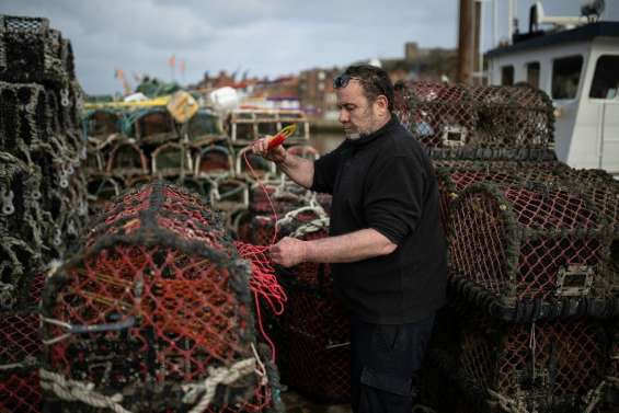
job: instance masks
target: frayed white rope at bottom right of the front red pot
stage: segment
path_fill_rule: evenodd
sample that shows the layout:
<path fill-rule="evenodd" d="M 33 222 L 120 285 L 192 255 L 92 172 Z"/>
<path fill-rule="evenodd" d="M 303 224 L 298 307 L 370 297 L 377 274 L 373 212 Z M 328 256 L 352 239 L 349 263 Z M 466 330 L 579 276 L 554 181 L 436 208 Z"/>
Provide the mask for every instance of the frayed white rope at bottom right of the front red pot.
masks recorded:
<path fill-rule="evenodd" d="M 183 390 L 186 392 L 183 397 L 183 403 L 194 403 L 198 394 L 204 393 L 199 402 L 190 411 L 190 413 L 202 413 L 213 401 L 217 386 L 231 385 L 240 378 L 254 372 L 255 368 L 256 359 L 253 357 L 237 362 L 229 368 L 209 367 L 208 378 L 204 381 L 204 383 L 191 383 L 183 386 Z"/>

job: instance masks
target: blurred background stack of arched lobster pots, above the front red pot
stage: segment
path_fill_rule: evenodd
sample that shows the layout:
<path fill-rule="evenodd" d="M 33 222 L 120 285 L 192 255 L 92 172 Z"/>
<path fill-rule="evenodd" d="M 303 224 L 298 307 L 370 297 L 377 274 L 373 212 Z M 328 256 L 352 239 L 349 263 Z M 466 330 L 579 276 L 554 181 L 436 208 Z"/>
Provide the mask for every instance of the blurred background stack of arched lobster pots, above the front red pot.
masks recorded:
<path fill-rule="evenodd" d="M 197 105 L 195 101 L 193 104 Z M 186 186 L 217 204 L 219 183 L 233 177 L 230 146 L 217 116 L 204 108 L 176 119 L 163 104 L 89 104 L 82 118 L 92 213 L 124 190 L 157 179 Z M 226 198 L 225 188 L 221 192 Z"/>

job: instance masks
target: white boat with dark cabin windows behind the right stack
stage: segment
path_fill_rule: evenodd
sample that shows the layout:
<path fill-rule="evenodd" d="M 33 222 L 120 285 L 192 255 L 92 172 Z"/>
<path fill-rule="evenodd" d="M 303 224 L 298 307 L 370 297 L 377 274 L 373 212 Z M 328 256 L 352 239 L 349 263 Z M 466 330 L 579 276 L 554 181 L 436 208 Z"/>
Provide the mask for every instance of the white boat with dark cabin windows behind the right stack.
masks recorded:
<path fill-rule="evenodd" d="M 539 2 L 530 18 L 529 33 L 486 51 L 489 83 L 543 90 L 555 106 L 559 160 L 619 177 L 619 22 L 543 16 Z M 554 30 L 534 30 L 539 23 Z"/>

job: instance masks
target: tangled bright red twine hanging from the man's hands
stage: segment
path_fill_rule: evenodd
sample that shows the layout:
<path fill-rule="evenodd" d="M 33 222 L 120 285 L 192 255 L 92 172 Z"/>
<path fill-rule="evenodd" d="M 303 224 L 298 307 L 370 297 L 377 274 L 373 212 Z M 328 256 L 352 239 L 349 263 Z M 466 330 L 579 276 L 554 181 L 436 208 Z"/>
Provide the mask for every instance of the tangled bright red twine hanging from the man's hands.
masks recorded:
<path fill-rule="evenodd" d="M 250 172 L 254 180 L 257 182 L 260 188 L 264 192 L 264 195 L 266 195 L 266 199 L 268 200 L 268 205 L 271 206 L 271 210 L 273 211 L 273 217 L 275 219 L 274 222 L 277 222 L 277 213 L 275 211 L 271 196 L 268 196 L 268 191 L 266 191 L 262 182 L 260 182 L 259 176 L 256 175 L 250 161 L 248 160 L 247 153 L 247 151 L 243 153 L 245 164 L 250 169 Z M 273 231 L 273 239 L 271 240 L 271 244 L 268 245 L 253 245 L 240 241 L 234 242 L 237 250 L 239 250 L 239 254 L 243 259 L 248 260 L 252 265 L 250 289 L 254 295 L 257 325 L 260 333 L 271 347 L 271 358 L 273 362 L 275 362 L 276 356 L 275 344 L 273 343 L 268 334 L 266 334 L 266 332 L 264 331 L 264 325 L 262 323 L 262 313 L 260 311 L 260 298 L 262 297 L 266 301 L 268 307 L 271 307 L 273 313 L 276 316 L 280 316 L 284 312 L 284 303 L 288 300 L 288 298 L 286 297 L 286 291 L 277 282 L 277 277 L 275 277 L 273 262 L 268 256 L 270 246 L 275 244 L 275 241 L 277 240 L 277 225 L 275 225 L 274 227 L 275 230 Z"/>

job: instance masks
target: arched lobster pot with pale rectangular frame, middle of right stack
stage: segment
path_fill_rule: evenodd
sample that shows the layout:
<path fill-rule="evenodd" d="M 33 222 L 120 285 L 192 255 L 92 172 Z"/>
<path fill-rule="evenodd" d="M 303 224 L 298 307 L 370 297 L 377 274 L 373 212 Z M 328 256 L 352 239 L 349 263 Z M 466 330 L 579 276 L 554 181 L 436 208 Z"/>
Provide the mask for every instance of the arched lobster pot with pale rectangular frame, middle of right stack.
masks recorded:
<path fill-rule="evenodd" d="M 607 226 L 566 190 L 474 184 L 450 209 L 450 267 L 494 305 L 570 302 L 594 311 L 610 291 Z"/>

